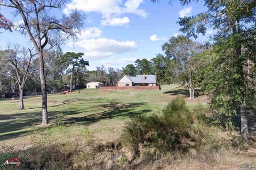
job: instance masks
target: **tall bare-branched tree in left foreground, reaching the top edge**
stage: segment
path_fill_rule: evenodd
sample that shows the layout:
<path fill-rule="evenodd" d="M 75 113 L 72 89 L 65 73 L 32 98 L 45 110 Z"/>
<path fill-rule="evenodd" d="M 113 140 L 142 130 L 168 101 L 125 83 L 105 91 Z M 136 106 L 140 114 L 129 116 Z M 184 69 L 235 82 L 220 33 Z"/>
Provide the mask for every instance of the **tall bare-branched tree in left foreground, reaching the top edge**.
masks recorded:
<path fill-rule="evenodd" d="M 1 2 L 2 1 L 2 2 Z M 74 11 L 69 16 L 57 19 L 54 11 L 61 10 L 66 0 L 0 0 L 0 6 L 15 9 L 14 15 L 20 15 L 23 23 L 19 26 L 22 34 L 28 34 L 30 41 L 35 47 L 39 59 L 39 77 L 42 90 L 42 124 L 48 124 L 47 118 L 47 92 L 44 72 L 43 52 L 62 43 L 67 38 L 76 37 L 79 29 L 83 26 L 84 16 Z M 65 33 L 65 34 L 62 34 Z M 47 46 L 47 47 L 46 47 Z"/>

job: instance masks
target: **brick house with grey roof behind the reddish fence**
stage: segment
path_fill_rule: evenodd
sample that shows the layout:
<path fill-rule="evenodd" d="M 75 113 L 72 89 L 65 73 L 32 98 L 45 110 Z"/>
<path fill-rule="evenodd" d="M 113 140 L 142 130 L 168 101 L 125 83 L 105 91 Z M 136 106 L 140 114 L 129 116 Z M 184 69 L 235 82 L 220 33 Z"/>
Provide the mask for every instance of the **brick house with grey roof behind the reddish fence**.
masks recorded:
<path fill-rule="evenodd" d="M 124 75 L 118 82 L 117 86 L 156 86 L 155 75 L 137 75 L 134 77 Z"/>

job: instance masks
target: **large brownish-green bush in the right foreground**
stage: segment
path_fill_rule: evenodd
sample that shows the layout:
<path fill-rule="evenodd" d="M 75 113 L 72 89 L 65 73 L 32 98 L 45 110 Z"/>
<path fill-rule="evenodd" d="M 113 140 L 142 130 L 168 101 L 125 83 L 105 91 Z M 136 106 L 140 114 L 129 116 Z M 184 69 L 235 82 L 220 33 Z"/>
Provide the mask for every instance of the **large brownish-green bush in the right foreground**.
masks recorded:
<path fill-rule="evenodd" d="M 218 128 L 209 122 L 202 106 L 189 110 L 182 96 L 177 96 L 162 112 L 128 122 L 121 141 L 134 156 L 139 156 L 142 148 L 156 148 L 159 152 L 188 151 L 191 147 L 218 149 L 222 144 Z"/>

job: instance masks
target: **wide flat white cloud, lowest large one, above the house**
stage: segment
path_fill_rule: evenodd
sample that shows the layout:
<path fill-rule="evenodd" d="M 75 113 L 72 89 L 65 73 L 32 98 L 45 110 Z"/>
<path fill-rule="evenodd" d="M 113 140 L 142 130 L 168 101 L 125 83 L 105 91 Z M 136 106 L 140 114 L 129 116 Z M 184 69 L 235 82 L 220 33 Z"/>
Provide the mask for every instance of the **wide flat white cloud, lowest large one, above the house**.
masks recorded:
<path fill-rule="evenodd" d="M 119 42 L 108 38 L 82 39 L 67 45 L 84 48 L 86 50 L 84 52 L 85 58 L 108 58 L 115 54 L 135 51 L 137 49 L 137 44 L 133 41 Z"/>

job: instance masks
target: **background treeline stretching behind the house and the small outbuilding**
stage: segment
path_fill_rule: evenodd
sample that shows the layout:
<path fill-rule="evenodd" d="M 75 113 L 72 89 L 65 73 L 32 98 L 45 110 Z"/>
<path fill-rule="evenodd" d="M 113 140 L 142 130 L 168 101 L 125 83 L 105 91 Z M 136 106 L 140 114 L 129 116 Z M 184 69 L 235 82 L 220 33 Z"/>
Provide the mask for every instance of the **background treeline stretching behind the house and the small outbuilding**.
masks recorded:
<path fill-rule="evenodd" d="M 178 49 L 178 46 L 173 47 L 173 49 L 169 47 L 175 45 L 172 44 L 173 39 L 179 41 L 179 43 L 189 41 L 190 45 L 194 44 L 197 47 L 197 51 L 189 56 L 182 53 L 185 52 L 185 49 L 172 53 L 170 50 Z M 60 47 L 56 47 L 44 52 L 46 90 L 48 93 L 55 93 L 65 88 L 70 88 L 70 91 L 72 91 L 72 89 L 85 88 L 88 82 L 101 82 L 108 86 L 116 86 L 123 75 L 135 76 L 142 74 L 156 75 L 159 84 L 183 83 L 187 85 L 189 79 L 186 73 L 189 66 L 193 65 L 195 67 L 196 65 L 195 63 L 189 64 L 190 58 L 194 59 L 199 51 L 203 49 L 205 49 L 203 45 L 186 37 L 172 37 L 169 42 L 163 45 L 165 55 L 157 54 L 151 60 L 138 59 L 134 61 L 134 64 L 127 64 L 122 69 L 106 68 L 102 65 L 89 71 L 86 69 L 89 66 L 89 61 L 83 59 L 83 53 L 63 53 Z M 19 82 L 25 95 L 34 95 L 41 92 L 41 83 L 38 76 L 38 56 L 31 55 L 29 50 L 24 47 L 21 48 L 17 44 L 9 45 L 7 50 L 0 51 L 0 94 L 18 93 Z M 186 56 L 186 58 L 183 58 L 183 56 Z M 19 74 L 18 77 L 17 74 Z M 22 80 L 19 81 L 20 77 L 26 77 L 26 81 L 22 85 Z"/>

